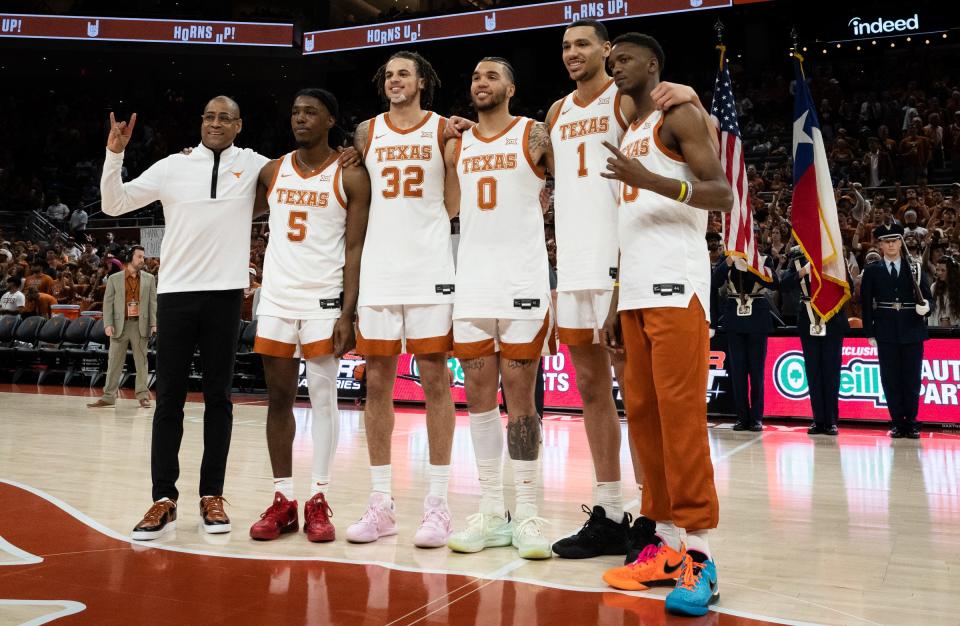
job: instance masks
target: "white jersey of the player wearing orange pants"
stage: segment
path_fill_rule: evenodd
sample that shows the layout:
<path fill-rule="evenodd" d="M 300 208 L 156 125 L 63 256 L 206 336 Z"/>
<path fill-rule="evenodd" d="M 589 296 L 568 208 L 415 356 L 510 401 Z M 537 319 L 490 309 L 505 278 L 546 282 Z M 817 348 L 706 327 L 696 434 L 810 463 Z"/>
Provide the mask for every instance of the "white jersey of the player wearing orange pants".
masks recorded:
<path fill-rule="evenodd" d="M 620 150 L 651 172 L 696 180 L 683 157 L 660 141 L 663 113 L 630 125 Z M 707 212 L 645 189 L 620 184 L 619 310 L 686 308 L 694 294 L 710 318 Z"/>

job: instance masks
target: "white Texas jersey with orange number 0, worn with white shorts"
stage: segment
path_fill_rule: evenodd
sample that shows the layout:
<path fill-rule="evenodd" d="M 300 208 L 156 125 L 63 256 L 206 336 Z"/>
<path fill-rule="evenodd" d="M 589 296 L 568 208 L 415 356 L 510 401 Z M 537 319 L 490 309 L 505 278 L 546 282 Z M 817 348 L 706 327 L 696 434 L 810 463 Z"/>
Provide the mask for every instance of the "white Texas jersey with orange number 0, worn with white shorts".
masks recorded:
<path fill-rule="evenodd" d="M 527 142 L 534 122 L 516 117 L 495 137 L 476 127 L 457 150 L 460 246 L 454 319 L 543 319 L 550 276 L 540 191 L 544 174 Z"/>

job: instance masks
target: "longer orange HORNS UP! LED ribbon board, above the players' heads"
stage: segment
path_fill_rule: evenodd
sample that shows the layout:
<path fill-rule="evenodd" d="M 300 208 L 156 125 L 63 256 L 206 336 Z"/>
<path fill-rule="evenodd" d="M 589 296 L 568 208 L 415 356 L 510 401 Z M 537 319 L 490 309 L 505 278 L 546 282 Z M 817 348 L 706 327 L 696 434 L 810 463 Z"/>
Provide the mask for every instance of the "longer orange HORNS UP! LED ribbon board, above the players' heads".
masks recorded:
<path fill-rule="evenodd" d="M 391 46 L 492 35 L 562 26 L 578 19 L 614 20 L 663 13 L 729 7 L 733 0 L 602 0 L 547 2 L 535 5 L 441 15 L 423 19 L 352 26 L 304 33 L 303 53 L 323 54 L 375 46 Z"/>

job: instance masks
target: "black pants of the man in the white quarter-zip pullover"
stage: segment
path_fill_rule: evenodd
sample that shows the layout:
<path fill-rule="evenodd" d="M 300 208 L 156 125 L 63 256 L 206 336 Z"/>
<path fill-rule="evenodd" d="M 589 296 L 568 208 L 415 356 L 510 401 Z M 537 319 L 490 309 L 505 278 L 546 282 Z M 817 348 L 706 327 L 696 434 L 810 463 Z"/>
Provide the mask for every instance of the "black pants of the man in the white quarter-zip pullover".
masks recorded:
<path fill-rule="evenodd" d="M 233 366 L 240 330 L 241 289 L 157 296 L 157 408 L 150 470 L 153 499 L 176 500 L 180 477 L 183 405 L 194 351 L 203 370 L 203 461 L 200 495 L 223 495 L 233 430 Z"/>

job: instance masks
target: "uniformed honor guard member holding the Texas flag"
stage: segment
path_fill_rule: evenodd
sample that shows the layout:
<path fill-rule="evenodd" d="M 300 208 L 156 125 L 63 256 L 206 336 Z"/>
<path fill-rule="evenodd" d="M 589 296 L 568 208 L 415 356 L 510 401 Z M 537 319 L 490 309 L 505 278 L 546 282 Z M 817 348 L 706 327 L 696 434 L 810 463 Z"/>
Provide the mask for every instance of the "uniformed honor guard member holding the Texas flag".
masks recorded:
<path fill-rule="evenodd" d="M 824 322 L 810 303 L 810 264 L 799 246 L 791 250 L 789 265 L 780 279 L 781 289 L 800 291 L 801 310 L 797 316 L 797 333 L 803 347 L 803 362 L 810 390 L 813 423 L 810 435 L 836 435 L 840 413 L 840 363 L 843 338 L 850 329 L 843 308 Z M 851 293 L 853 285 L 850 286 Z"/>

